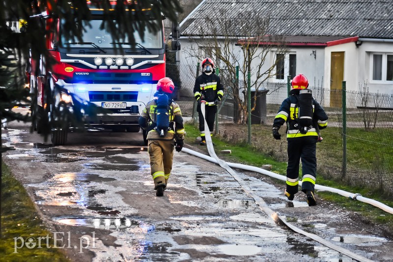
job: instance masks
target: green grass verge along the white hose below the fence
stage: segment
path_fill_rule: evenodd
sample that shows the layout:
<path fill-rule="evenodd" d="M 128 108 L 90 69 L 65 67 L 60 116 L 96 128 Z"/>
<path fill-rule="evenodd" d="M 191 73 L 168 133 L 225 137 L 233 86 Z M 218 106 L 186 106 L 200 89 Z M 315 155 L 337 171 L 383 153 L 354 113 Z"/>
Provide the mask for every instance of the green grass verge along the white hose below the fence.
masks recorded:
<path fill-rule="evenodd" d="M 185 125 L 187 131 L 186 143 L 194 144 L 195 138 L 199 136 L 199 131 L 194 125 L 187 123 Z M 286 162 L 277 161 L 274 157 L 261 153 L 258 149 L 250 146 L 246 143 L 230 143 L 228 141 L 222 141 L 217 137 L 213 137 L 215 143 L 215 151 L 218 157 L 230 161 L 261 167 L 264 164 L 272 165 L 272 172 L 277 174 L 285 175 L 286 173 Z M 230 149 L 230 155 L 220 154 L 221 150 Z M 278 183 L 284 182 L 278 181 Z M 341 189 L 351 193 L 360 193 L 362 196 L 374 199 L 381 202 L 389 207 L 393 207 L 393 201 L 389 195 L 382 195 L 378 190 L 369 190 L 362 187 L 355 187 L 345 185 L 342 182 L 324 179 L 320 174 L 317 176 L 317 184 L 325 185 L 337 189 Z M 372 205 L 355 201 L 352 199 L 345 198 L 341 195 L 330 193 L 330 192 L 316 192 L 318 197 L 323 201 L 333 202 L 346 210 L 357 212 L 362 216 L 365 222 L 379 225 L 383 228 L 386 234 L 393 236 L 393 214 L 387 213 L 379 208 Z"/>

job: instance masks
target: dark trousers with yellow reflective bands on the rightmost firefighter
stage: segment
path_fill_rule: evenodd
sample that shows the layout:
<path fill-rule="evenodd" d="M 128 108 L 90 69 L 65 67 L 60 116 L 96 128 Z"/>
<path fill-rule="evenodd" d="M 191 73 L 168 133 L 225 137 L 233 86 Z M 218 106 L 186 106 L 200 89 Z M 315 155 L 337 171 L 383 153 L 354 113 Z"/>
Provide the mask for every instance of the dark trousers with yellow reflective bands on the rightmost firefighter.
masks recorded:
<path fill-rule="evenodd" d="M 302 160 L 302 191 L 314 192 L 316 180 L 315 136 L 288 139 L 288 166 L 286 169 L 286 191 L 296 194 L 299 190 L 299 164 Z"/>

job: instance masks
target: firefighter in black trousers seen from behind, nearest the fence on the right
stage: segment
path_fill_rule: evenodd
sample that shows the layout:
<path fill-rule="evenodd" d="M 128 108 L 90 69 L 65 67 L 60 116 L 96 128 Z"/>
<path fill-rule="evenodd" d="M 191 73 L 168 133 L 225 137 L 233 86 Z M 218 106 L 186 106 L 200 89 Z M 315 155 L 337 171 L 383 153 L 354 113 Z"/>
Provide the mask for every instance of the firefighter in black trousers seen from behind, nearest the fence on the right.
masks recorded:
<path fill-rule="evenodd" d="M 285 196 L 292 201 L 299 190 L 299 162 L 302 159 L 302 191 L 307 195 L 309 206 L 315 206 L 314 186 L 316 179 L 316 142 L 321 139 L 319 130 L 327 127 L 328 116 L 321 105 L 309 96 L 310 113 L 304 116 L 311 125 L 302 126 L 299 119 L 299 94 L 309 92 L 309 81 L 304 75 L 297 75 L 292 80 L 292 89 L 273 122 L 273 136 L 281 139 L 280 127 L 286 122 L 288 142 L 288 166 L 286 169 Z M 302 91 L 303 90 L 303 91 Z M 312 120 L 311 120 L 312 119 Z"/>

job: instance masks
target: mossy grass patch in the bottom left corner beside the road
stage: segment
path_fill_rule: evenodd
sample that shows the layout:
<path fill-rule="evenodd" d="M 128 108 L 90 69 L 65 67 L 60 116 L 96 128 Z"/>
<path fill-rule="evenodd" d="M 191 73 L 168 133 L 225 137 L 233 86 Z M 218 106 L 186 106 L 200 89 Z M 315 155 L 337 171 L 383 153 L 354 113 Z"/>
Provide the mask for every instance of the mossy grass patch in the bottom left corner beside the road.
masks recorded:
<path fill-rule="evenodd" d="M 25 188 L 4 163 L 1 163 L 1 170 L 0 261 L 69 262 L 58 248 L 50 248 L 53 246 L 50 241 L 47 246 L 46 239 L 38 247 L 38 237 L 53 239 L 53 234 L 45 228 Z M 35 243 L 32 248 L 28 248 L 29 238 L 32 240 L 30 246 Z"/>

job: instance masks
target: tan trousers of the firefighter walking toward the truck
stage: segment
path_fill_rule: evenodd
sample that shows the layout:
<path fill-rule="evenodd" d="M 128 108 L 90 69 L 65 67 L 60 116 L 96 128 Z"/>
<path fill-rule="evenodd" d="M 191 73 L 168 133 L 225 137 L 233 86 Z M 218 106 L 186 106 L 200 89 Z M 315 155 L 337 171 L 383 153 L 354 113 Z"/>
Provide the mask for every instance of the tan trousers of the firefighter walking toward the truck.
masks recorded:
<path fill-rule="evenodd" d="M 167 186 L 173 163 L 174 140 L 149 140 L 150 172 L 157 186 Z"/>

